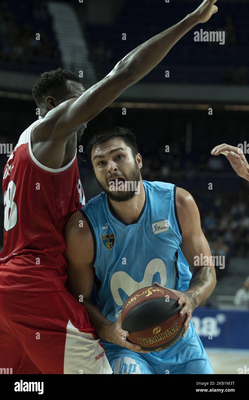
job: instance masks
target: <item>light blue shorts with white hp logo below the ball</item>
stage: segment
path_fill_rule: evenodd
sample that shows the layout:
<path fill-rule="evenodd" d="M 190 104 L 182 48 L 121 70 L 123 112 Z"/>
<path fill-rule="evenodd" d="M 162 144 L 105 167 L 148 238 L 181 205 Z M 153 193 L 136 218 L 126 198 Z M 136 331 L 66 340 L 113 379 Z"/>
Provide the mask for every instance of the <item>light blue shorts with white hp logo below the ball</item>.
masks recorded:
<path fill-rule="evenodd" d="M 160 352 L 140 354 L 102 340 L 114 374 L 214 374 L 190 321 L 184 338 Z"/>

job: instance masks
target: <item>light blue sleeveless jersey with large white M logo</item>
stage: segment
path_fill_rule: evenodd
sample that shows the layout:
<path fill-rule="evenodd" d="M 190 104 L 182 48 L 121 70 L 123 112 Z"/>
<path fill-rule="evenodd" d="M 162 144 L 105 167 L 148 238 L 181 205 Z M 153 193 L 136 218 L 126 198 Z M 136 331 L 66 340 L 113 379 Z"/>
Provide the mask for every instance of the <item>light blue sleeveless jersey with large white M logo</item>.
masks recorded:
<path fill-rule="evenodd" d="M 92 300 L 112 322 L 136 290 L 158 282 L 183 291 L 191 279 L 179 248 L 176 186 L 147 181 L 143 186 L 145 205 L 134 224 L 127 225 L 112 214 L 105 192 L 82 208 L 94 239 L 96 288 Z"/>

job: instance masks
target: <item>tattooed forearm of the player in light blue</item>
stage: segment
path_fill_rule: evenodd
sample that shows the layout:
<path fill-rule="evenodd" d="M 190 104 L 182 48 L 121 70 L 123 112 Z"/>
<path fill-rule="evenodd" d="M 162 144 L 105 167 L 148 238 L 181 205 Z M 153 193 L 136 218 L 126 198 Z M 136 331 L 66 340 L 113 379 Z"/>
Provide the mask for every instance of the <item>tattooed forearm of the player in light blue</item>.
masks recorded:
<path fill-rule="evenodd" d="M 207 300 L 216 285 L 216 275 L 214 267 L 200 267 L 195 270 L 190 282 L 188 294 L 191 294 L 193 306 L 198 307 L 203 301 Z"/>

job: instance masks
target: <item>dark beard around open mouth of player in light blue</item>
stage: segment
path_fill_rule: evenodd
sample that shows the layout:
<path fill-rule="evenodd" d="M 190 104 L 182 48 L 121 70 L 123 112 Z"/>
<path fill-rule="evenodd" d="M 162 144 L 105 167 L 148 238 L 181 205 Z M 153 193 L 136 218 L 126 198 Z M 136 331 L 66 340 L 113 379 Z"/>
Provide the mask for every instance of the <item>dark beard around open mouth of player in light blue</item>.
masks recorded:
<path fill-rule="evenodd" d="M 112 174 L 112 176 L 108 176 L 104 182 L 98 180 L 96 174 L 95 177 L 100 188 L 106 192 L 111 200 L 124 202 L 131 200 L 135 196 L 135 192 L 138 190 L 141 175 L 137 162 L 134 160 L 134 163 L 131 165 L 131 171 L 127 175 L 125 175 L 122 171 L 119 171 L 116 174 Z M 112 180 L 110 181 L 110 179 Z M 134 184 L 125 186 L 125 181 L 134 182 Z M 120 185 L 120 182 L 123 182 L 123 185 Z M 116 190 L 113 190 L 114 186 Z M 118 187 L 124 190 L 118 190 Z"/>

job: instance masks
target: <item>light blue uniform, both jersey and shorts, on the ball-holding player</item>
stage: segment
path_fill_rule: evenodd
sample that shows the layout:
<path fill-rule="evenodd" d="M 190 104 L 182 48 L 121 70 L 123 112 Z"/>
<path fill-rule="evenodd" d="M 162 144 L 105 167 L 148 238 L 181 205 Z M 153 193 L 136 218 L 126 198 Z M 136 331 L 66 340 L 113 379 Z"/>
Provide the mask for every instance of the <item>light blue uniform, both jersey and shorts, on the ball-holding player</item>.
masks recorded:
<path fill-rule="evenodd" d="M 176 186 L 143 180 L 145 205 L 134 224 L 112 214 L 102 192 L 81 209 L 94 240 L 92 300 L 115 322 L 127 298 L 158 282 L 186 291 L 191 272 L 180 249 Z M 184 338 L 161 352 L 139 354 L 101 340 L 114 374 L 213 374 L 211 362 L 190 321 Z"/>

